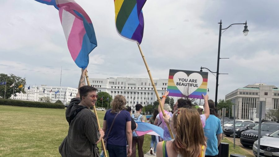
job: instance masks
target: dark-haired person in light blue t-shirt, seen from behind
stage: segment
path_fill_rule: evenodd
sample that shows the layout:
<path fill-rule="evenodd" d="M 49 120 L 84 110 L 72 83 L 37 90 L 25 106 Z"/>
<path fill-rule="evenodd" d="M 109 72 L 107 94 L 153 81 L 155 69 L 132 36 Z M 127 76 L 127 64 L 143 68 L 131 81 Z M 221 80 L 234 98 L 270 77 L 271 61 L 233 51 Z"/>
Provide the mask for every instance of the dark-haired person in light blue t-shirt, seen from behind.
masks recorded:
<path fill-rule="evenodd" d="M 210 115 L 206 119 L 206 125 L 203 128 L 204 134 L 207 138 L 207 148 L 205 157 L 217 157 L 218 156 L 218 146 L 222 138 L 222 127 L 220 119 L 217 118 L 217 113 L 215 112 L 215 104 L 213 100 L 208 100 Z"/>

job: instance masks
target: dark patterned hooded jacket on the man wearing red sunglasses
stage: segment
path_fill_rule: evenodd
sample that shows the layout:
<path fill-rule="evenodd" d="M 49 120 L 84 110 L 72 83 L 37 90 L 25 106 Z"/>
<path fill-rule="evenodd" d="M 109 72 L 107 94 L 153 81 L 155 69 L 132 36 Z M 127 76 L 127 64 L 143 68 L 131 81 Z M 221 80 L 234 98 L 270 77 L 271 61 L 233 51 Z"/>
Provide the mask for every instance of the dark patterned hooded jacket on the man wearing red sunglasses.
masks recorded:
<path fill-rule="evenodd" d="M 62 157 L 99 157 L 95 143 L 100 138 L 95 114 L 73 98 L 66 109 L 69 123 L 68 135 L 62 141 L 59 152 Z"/>

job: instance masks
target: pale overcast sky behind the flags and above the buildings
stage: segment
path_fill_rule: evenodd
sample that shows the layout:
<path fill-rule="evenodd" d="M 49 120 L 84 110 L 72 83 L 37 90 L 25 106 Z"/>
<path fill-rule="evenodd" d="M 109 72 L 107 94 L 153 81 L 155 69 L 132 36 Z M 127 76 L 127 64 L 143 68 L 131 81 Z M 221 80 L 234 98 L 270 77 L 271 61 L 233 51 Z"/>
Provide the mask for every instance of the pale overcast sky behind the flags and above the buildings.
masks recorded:
<path fill-rule="evenodd" d="M 113 0 L 75 0 L 90 16 L 98 47 L 90 53 L 90 78 L 149 77 L 135 42 L 120 37 Z M 279 1 L 147 0 L 141 48 L 154 79 L 169 69 L 216 72 L 219 24 L 233 25 L 221 37 L 218 99 L 254 83 L 278 85 Z M 1 0 L 0 73 L 26 77 L 27 86 L 77 87 L 80 69 L 72 60 L 58 11 L 34 0 Z M 205 70 L 206 71 L 206 70 Z M 216 78 L 209 73 L 209 98 Z"/>

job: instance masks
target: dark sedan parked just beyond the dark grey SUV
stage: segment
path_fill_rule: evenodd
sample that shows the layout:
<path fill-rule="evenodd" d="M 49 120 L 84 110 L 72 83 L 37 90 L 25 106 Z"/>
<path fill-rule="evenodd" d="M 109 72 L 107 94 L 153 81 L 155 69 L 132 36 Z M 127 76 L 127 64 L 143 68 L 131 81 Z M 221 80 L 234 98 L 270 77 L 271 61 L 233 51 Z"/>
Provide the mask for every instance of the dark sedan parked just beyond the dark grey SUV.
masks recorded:
<path fill-rule="evenodd" d="M 238 122 L 235 124 L 235 136 L 240 137 L 241 132 L 244 132 L 248 129 L 252 129 L 258 125 L 257 123 L 250 123 L 250 122 Z M 234 126 L 228 126 L 224 127 L 223 132 L 226 136 L 233 136 L 233 127 Z"/>

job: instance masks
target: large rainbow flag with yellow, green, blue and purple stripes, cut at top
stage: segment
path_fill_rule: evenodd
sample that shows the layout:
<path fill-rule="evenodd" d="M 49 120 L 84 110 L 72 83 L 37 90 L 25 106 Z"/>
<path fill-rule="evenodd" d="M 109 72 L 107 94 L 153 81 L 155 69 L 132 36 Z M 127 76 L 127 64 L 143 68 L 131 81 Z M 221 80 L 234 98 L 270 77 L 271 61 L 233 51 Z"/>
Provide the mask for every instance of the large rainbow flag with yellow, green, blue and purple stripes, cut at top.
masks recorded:
<path fill-rule="evenodd" d="M 145 2 L 146 0 L 114 0 L 117 33 L 139 44 L 144 32 L 142 8 Z"/>

